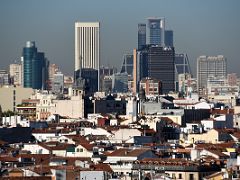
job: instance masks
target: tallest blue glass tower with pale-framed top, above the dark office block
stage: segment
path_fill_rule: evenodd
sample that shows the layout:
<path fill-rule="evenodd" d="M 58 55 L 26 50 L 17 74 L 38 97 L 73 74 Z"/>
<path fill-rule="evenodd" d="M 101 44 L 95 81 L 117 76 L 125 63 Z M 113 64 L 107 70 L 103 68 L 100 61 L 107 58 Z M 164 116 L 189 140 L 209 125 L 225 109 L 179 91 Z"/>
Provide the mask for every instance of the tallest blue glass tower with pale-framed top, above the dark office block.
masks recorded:
<path fill-rule="evenodd" d="M 148 44 L 161 45 L 165 44 L 165 19 L 151 17 L 148 18 Z"/>

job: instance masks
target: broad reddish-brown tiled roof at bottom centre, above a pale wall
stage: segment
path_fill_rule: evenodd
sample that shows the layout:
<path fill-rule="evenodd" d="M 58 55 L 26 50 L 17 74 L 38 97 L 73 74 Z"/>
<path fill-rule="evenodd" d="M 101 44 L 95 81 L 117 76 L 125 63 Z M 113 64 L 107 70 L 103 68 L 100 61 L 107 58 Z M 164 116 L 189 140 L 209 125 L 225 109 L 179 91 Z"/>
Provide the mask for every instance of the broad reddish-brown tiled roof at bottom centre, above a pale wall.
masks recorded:
<path fill-rule="evenodd" d="M 112 153 L 108 154 L 108 156 L 139 156 L 142 153 L 145 153 L 146 151 L 149 151 L 150 149 L 117 149 L 113 151 Z"/>

